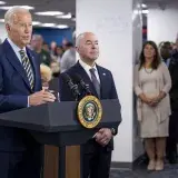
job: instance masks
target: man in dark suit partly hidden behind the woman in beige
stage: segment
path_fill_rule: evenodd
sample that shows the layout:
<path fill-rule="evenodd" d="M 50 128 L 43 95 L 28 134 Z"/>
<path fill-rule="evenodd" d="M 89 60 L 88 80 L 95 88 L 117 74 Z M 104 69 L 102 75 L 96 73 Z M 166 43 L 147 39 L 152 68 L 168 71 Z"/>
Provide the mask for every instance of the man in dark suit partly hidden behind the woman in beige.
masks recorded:
<path fill-rule="evenodd" d="M 177 164 L 177 137 L 178 137 L 178 58 L 174 53 L 171 56 L 171 43 L 165 42 L 161 46 L 160 55 L 162 60 L 166 62 L 170 77 L 171 77 L 171 89 L 170 89 L 170 105 L 171 116 L 169 120 L 169 137 L 167 138 L 167 159 L 170 164 Z"/>

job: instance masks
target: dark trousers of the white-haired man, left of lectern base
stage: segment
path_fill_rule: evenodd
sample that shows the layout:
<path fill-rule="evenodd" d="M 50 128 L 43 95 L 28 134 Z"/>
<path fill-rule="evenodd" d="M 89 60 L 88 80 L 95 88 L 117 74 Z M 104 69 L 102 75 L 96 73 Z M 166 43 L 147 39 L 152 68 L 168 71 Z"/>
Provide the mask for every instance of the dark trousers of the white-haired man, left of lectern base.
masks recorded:
<path fill-rule="evenodd" d="M 0 151 L 0 178 L 40 178 L 40 148 L 23 152 Z"/>

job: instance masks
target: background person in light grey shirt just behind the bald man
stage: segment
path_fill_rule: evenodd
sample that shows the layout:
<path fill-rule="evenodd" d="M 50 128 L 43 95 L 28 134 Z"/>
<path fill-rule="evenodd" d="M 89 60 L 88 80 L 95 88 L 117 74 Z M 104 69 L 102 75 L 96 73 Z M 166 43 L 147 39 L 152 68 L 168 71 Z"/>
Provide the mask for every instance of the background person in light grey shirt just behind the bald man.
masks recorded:
<path fill-rule="evenodd" d="M 66 51 L 61 58 L 60 72 L 65 72 L 76 65 L 76 49 L 71 42 L 66 44 Z"/>

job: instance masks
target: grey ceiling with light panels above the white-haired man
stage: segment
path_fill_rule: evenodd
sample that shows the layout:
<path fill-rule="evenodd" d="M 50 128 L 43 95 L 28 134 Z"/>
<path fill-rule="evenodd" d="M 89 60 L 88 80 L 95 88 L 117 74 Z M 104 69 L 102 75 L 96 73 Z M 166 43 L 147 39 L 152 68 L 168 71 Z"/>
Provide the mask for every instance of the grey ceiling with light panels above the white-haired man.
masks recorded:
<path fill-rule="evenodd" d="M 76 0 L 3 0 L 3 1 L 7 2 L 3 6 L 34 7 L 33 10 L 30 10 L 33 17 L 33 21 L 76 27 L 76 21 L 72 19 L 57 19 L 56 17 L 33 14 L 33 12 L 39 12 L 39 11 L 61 11 L 63 13 L 71 13 L 73 17 L 76 17 Z M 0 9 L 0 19 L 3 19 L 4 12 L 6 10 Z"/>

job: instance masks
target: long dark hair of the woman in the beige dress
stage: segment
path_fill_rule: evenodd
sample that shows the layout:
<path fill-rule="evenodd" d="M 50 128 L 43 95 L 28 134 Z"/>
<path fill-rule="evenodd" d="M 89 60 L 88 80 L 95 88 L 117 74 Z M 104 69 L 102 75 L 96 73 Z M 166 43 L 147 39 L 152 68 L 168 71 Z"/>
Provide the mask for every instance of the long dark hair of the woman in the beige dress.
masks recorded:
<path fill-rule="evenodd" d="M 144 66 L 145 61 L 146 61 L 146 58 L 145 58 L 145 55 L 144 55 L 144 50 L 146 48 L 147 44 L 150 44 L 154 49 L 155 49 L 155 58 L 154 58 L 154 61 L 151 63 L 151 68 L 152 69 L 157 69 L 158 66 L 160 65 L 160 56 L 159 56 L 159 52 L 158 52 L 158 47 L 157 44 L 154 42 L 154 41 L 146 41 L 142 46 L 142 50 L 141 50 L 141 53 L 140 53 L 140 66 L 139 66 L 139 70 L 141 69 L 141 67 Z"/>

